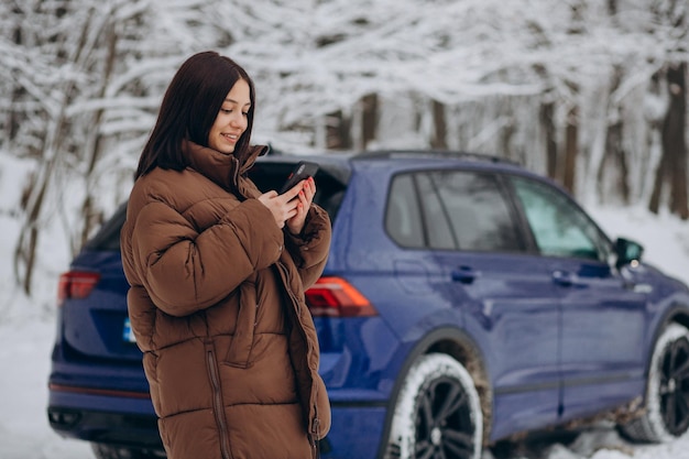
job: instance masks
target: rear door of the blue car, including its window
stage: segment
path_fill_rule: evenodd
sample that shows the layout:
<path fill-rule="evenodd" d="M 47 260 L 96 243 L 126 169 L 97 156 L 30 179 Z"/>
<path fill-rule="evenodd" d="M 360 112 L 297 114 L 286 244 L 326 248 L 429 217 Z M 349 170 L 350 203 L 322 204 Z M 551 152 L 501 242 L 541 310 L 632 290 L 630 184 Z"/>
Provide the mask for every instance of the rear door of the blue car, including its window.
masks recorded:
<path fill-rule="evenodd" d="M 557 419 L 559 306 L 505 188 L 482 171 L 415 175 L 436 291 L 453 297 L 494 390 L 494 438 Z"/>

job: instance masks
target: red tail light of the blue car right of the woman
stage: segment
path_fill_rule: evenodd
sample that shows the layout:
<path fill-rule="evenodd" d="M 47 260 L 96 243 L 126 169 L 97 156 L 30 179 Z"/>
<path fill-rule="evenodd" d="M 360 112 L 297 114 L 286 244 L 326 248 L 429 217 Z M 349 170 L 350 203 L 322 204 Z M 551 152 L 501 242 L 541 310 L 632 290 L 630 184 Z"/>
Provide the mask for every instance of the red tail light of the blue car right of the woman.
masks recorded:
<path fill-rule="evenodd" d="M 320 277 L 306 291 L 306 304 L 315 317 L 378 316 L 369 299 L 340 277 Z"/>

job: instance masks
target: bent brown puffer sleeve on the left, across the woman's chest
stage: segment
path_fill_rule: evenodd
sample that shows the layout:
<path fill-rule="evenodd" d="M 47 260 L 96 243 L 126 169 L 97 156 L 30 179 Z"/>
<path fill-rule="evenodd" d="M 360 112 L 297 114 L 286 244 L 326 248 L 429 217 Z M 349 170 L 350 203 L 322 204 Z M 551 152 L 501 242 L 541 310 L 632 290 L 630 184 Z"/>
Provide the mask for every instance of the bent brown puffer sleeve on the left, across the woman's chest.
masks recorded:
<path fill-rule="evenodd" d="M 284 236 L 272 221 L 263 204 L 248 199 L 197 232 L 172 207 L 149 203 L 132 222 L 132 264 L 160 309 L 186 316 L 217 304 L 278 260 Z"/>

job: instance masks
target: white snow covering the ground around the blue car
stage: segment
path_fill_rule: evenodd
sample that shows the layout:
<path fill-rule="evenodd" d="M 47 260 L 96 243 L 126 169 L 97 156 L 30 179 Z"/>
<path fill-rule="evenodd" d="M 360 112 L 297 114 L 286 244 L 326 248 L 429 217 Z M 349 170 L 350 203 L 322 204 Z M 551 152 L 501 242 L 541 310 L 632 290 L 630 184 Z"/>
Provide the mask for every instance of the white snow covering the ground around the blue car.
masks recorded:
<path fill-rule="evenodd" d="M 649 216 L 643 208 L 590 208 L 589 211 L 611 237 L 623 236 L 642 242 L 648 262 L 689 283 L 689 222 L 664 214 Z M 0 216 L 3 234 L 11 232 L 9 221 Z M 0 312 L 12 312 L 0 320 L 0 459 L 92 459 L 87 444 L 64 439 L 48 426 L 46 381 L 55 325 L 43 306 L 36 314 L 35 305 L 22 299 L 22 295 L 7 294 L 10 255 L 11 250 L 0 244 Z M 63 262 L 58 260 L 54 264 L 59 263 Z M 45 283 L 55 285 L 55 280 L 46 278 Z M 13 303 L 11 307 L 9 302 Z M 22 310 L 32 313 L 22 315 Z M 491 457 L 490 452 L 484 453 L 484 459 Z M 610 426 L 601 426 L 582 434 L 567 447 L 553 442 L 538 452 L 520 452 L 511 459 L 631 458 L 689 459 L 689 435 L 665 445 L 638 446 L 621 439 Z"/>

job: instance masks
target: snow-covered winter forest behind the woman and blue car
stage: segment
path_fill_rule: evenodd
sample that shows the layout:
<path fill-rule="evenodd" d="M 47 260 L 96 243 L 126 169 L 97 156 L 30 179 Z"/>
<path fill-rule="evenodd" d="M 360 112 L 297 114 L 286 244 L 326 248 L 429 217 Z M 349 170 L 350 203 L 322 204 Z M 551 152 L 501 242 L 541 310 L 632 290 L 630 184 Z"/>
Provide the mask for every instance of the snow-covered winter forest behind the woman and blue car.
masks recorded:
<path fill-rule="evenodd" d="M 31 295 L 40 244 L 76 252 L 125 199 L 169 79 L 206 50 L 252 75 L 254 143 L 486 153 L 688 219 L 688 30 L 687 0 L 2 0 L 12 282 Z"/>

